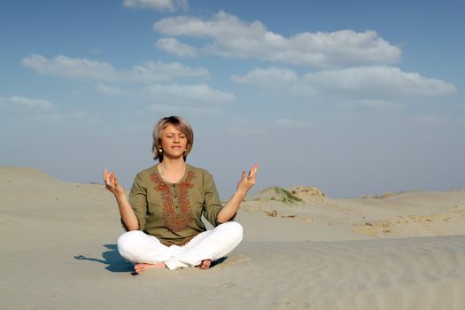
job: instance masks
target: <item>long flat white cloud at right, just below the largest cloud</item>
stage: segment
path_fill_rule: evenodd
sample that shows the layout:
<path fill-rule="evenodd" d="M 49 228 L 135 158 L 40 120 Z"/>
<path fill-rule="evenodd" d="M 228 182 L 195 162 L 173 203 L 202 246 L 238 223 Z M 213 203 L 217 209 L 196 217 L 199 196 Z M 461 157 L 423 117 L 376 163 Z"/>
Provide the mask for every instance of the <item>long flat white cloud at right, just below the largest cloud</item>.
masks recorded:
<path fill-rule="evenodd" d="M 233 81 L 259 85 L 267 89 L 284 89 L 294 95 L 321 95 L 356 99 L 388 100 L 402 97 L 428 97 L 455 94 L 453 84 L 402 72 L 391 66 L 361 66 L 327 70 L 298 77 L 291 70 L 270 67 L 255 69 Z M 368 105 L 383 105 L 373 100 Z"/>

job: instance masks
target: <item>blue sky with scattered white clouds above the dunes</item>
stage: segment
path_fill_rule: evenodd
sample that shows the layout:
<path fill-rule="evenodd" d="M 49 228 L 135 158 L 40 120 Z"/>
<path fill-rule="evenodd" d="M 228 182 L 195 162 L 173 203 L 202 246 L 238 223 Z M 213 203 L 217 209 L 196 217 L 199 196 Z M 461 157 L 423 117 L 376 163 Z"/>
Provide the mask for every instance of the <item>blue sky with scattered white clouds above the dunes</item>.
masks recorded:
<path fill-rule="evenodd" d="M 0 166 L 67 182 L 155 164 L 180 115 L 221 198 L 465 188 L 465 4 L 445 1 L 0 2 Z"/>

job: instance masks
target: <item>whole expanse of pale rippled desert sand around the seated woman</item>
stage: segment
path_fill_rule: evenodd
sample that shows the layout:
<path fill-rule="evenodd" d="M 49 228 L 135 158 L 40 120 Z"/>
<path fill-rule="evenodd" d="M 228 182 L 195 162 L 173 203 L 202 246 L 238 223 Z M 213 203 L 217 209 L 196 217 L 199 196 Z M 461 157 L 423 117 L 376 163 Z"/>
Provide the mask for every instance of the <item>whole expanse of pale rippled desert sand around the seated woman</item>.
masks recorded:
<path fill-rule="evenodd" d="M 465 309 L 465 190 L 275 187 L 236 221 L 244 241 L 216 266 L 133 275 L 103 185 L 0 167 L 0 308 Z"/>

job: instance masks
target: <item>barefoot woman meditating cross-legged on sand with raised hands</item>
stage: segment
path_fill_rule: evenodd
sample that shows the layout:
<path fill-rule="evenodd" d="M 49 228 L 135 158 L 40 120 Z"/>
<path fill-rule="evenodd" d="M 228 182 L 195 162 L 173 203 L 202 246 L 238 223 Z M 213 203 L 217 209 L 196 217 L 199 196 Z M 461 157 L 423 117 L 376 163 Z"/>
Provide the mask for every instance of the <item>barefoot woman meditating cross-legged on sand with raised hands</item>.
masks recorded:
<path fill-rule="evenodd" d="M 255 183 L 258 165 L 249 174 L 243 171 L 235 194 L 222 206 L 212 175 L 185 162 L 193 142 L 186 120 L 159 120 L 152 144 L 159 164 L 136 175 L 129 199 L 114 174 L 104 171 L 105 188 L 114 194 L 127 230 L 118 239 L 118 251 L 135 264 L 137 274 L 160 267 L 207 269 L 242 240 L 242 226 L 233 220 Z M 214 229 L 205 229 L 202 215 Z"/>

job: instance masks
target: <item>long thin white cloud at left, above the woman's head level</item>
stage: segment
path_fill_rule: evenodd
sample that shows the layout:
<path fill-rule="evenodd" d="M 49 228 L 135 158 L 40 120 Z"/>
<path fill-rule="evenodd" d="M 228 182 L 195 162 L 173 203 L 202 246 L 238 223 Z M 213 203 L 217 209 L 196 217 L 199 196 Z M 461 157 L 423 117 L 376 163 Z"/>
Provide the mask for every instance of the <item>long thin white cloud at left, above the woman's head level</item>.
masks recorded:
<path fill-rule="evenodd" d="M 112 65 L 86 58 L 68 58 L 58 55 L 53 59 L 32 54 L 22 59 L 23 66 L 39 74 L 54 75 L 84 81 L 136 81 L 141 83 L 169 82 L 175 79 L 208 79 L 205 68 L 191 68 L 180 63 L 148 61 L 129 70 L 117 70 Z"/>

